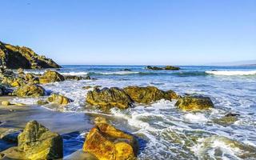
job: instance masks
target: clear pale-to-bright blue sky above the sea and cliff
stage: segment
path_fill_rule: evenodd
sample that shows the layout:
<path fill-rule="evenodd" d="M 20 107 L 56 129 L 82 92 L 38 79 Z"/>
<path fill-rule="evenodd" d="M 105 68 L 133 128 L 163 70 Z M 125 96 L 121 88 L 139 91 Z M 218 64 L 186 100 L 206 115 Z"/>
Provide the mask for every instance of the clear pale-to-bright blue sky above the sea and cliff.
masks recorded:
<path fill-rule="evenodd" d="M 0 41 L 60 64 L 256 59 L 256 0 L 0 0 Z"/>

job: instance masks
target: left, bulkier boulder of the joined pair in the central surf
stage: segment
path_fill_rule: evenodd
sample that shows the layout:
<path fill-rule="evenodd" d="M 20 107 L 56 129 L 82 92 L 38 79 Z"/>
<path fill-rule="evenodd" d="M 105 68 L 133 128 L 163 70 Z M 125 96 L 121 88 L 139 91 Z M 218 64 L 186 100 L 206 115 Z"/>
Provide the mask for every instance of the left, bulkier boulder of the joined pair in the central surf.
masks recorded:
<path fill-rule="evenodd" d="M 126 92 L 117 87 L 98 88 L 89 91 L 86 96 L 86 102 L 92 106 L 98 106 L 102 110 L 108 110 L 112 107 L 126 109 L 132 106 L 132 100 Z"/>

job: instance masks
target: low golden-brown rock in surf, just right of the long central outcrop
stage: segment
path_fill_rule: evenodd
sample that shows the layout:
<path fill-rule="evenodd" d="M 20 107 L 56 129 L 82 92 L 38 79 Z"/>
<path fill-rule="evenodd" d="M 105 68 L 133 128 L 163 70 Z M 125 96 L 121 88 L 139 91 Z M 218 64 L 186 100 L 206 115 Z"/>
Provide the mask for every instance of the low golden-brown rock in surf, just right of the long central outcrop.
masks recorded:
<path fill-rule="evenodd" d="M 178 109 L 182 110 L 207 110 L 214 107 L 214 103 L 208 97 L 203 96 L 185 96 L 178 99 L 175 103 Z"/>

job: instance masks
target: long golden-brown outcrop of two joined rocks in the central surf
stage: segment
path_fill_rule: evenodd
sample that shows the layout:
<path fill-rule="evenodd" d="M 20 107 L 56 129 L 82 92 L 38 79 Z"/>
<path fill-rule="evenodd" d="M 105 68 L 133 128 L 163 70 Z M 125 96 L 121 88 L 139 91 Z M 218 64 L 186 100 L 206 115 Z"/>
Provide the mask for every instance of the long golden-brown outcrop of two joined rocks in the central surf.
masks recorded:
<path fill-rule="evenodd" d="M 92 106 L 98 106 L 102 110 L 109 110 L 113 107 L 126 109 L 134 102 L 141 104 L 150 104 L 161 99 L 170 100 L 178 98 L 173 90 L 163 91 L 155 86 L 127 86 L 124 89 L 117 87 L 103 88 L 102 90 L 94 88 L 86 95 L 86 102 Z"/>

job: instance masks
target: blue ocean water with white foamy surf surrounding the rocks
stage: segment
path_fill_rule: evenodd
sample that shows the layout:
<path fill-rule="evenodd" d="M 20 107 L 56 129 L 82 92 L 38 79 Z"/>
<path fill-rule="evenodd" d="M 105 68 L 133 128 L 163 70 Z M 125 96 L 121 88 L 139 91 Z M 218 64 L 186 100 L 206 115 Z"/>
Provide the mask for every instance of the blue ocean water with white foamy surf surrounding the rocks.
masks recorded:
<path fill-rule="evenodd" d="M 145 70 L 145 66 L 63 66 L 58 70 L 61 74 L 90 75 L 97 80 L 54 82 L 43 87 L 74 100 L 62 111 L 102 114 L 111 118 L 114 126 L 137 136 L 138 159 L 256 159 L 256 66 L 180 67 L 171 71 Z M 184 112 L 174 106 L 175 100 L 160 100 L 102 113 L 86 106 L 86 93 L 92 89 L 84 90 L 82 86 L 157 86 L 180 95 L 208 96 L 214 109 Z M 37 100 L 14 99 L 26 104 Z M 52 105 L 44 107 L 56 109 Z M 228 113 L 240 114 L 238 121 L 231 125 L 214 121 Z"/>

